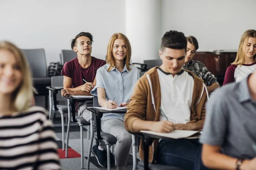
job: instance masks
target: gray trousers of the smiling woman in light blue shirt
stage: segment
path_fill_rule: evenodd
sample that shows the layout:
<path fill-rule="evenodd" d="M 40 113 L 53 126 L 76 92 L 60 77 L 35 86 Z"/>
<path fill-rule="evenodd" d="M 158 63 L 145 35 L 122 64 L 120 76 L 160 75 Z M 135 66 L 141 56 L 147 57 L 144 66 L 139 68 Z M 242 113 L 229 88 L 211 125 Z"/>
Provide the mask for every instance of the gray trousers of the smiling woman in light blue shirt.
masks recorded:
<path fill-rule="evenodd" d="M 116 137 L 115 164 L 124 167 L 131 148 L 131 133 L 125 130 L 124 122 L 119 119 L 102 120 L 102 131 Z"/>

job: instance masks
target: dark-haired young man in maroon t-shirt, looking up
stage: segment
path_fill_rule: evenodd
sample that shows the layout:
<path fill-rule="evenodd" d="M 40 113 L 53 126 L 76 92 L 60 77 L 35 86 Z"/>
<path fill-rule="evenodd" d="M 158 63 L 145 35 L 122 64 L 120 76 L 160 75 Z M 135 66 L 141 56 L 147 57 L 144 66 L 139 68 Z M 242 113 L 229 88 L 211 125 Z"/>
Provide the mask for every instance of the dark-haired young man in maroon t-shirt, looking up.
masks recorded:
<path fill-rule="evenodd" d="M 106 64 L 104 60 L 91 56 L 92 42 L 93 36 L 88 32 L 81 32 L 72 40 L 71 48 L 77 53 L 77 57 L 66 62 L 63 66 L 61 72 L 61 75 L 64 75 L 64 89 L 61 90 L 62 96 L 91 95 L 90 91 L 96 85 L 96 72 L 98 68 Z M 87 82 L 85 83 L 83 79 Z M 89 122 L 90 119 L 90 112 L 86 109 L 86 107 L 90 106 L 93 106 L 91 101 L 79 102 L 78 104 L 78 114 L 87 122 Z M 100 142 L 98 147 L 93 148 L 93 152 L 95 153 L 99 164 L 102 167 L 107 167 L 107 152 L 105 143 Z M 96 148 L 97 150 L 95 150 Z M 105 150 L 103 150 L 103 148 Z"/>

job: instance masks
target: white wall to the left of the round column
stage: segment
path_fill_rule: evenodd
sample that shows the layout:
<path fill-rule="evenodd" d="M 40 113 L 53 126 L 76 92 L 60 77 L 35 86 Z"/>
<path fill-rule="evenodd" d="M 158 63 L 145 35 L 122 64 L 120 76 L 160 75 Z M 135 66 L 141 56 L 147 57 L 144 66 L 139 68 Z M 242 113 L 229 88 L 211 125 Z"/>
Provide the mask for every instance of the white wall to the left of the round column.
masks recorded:
<path fill-rule="evenodd" d="M 81 31 L 94 36 L 92 56 L 105 59 L 108 40 L 125 32 L 124 0 L 1 0 L 0 40 L 44 48 L 47 64 Z"/>

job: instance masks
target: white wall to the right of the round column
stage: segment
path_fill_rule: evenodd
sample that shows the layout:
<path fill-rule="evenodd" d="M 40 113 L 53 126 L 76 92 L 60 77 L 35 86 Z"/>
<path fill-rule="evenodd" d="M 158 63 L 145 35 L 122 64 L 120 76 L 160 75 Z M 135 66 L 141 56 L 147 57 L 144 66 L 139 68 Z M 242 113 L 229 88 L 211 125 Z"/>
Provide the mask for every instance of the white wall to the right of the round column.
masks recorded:
<path fill-rule="evenodd" d="M 199 51 L 237 49 L 241 35 L 256 29 L 256 0 L 162 0 L 162 33 L 182 31 Z"/>

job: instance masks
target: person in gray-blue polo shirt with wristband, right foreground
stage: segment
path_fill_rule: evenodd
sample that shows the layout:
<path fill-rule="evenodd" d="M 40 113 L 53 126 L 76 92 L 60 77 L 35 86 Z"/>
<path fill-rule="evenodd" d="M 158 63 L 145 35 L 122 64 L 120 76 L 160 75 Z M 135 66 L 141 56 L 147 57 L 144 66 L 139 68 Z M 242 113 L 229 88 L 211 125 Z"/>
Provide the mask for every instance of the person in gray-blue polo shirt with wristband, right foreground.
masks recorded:
<path fill-rule="evenodd" d="M 256 170 L 256 71 L 213 92 L 207 103 L 202 160 L 212 169 Z"/>

